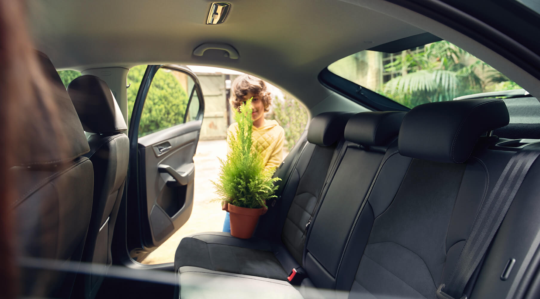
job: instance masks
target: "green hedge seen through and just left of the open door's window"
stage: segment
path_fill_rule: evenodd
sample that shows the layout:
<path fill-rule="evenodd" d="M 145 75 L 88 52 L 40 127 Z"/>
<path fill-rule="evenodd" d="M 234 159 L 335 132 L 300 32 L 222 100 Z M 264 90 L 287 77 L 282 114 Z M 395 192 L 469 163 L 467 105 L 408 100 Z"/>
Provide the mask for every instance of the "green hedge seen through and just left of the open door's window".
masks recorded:
<path fill-rule="evenodd" d="M 127 89 L 127 110 L 130 111 L 128 118 L 131 118 L 133 104 L 145 70 L 146 65 L 138 65 L 131 68 L 127 74 L 127 82 L 131 83 Z M 152 79 L 144 102 L 139 137 L 183 123 L 188 97 L 174 76 L 174 71 L 159 69 Z"/>

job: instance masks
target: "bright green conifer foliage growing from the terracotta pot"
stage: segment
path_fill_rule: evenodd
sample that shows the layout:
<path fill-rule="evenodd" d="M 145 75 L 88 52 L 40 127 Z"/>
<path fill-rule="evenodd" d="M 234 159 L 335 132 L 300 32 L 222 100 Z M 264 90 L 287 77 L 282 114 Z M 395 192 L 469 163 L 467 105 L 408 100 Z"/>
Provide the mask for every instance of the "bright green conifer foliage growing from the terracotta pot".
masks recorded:
<path fill-rule="evenodd" d="M 240 106 L 240 112 L 235 112 L 237 132 L 230 132 L 230 151 L 226 160 L 220 159 L 219 178 L 212 183 L 222 202 L 257 209 L 266 207 L 266 201 L 276 197 L 278 186 L 274 182 L 280 178 L 272 178 L 274 169 L 264 169 L 260 152 L 254 148 L 252 111 L 249 99 Z"/>

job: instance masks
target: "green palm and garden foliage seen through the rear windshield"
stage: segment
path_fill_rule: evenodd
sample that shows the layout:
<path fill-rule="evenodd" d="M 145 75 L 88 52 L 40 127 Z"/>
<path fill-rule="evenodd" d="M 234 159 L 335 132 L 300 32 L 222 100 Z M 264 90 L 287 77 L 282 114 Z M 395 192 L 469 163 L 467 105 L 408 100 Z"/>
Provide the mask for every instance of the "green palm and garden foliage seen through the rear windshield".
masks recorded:
<path fill-rule="evenodd" d="M 400 76 L 390 79 L 378 92 L 409 108 L 494 89 L 519 88 L 500 72 L 447 41 L 427 44 L 420 53 L 403 51 L 393 62 L 384 65 L 384 71 L 398 71 Z M 489 72 L 492 75 L 481 78 L 480 75 Z"/>

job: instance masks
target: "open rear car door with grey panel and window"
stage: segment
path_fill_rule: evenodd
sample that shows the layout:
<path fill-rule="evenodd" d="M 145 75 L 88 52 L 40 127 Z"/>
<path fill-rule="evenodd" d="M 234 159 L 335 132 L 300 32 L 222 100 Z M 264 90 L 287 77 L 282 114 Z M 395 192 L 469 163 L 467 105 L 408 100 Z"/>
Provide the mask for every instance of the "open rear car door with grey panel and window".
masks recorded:
<path fill-rule="evenodd" d="M 197 76 L 177 65 L 149 65 L 130 120 L 127 249 L 136 261 L 191 215 L 204 99 Z"/>

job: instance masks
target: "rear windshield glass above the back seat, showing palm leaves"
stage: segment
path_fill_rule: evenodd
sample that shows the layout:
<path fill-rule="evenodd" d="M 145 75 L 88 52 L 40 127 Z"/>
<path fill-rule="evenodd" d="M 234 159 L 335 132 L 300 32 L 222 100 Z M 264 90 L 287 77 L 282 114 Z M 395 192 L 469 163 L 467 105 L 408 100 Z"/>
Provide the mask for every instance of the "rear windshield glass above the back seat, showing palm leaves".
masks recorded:
<path fill-rule="evenodd" d="M 396 53 L 365 50 L 330 64 L 328 70 L 409 108 L 481 92 L 521 88 L 447 41 Z M 504 92 L 500 96 L 504 97 Z"/>

